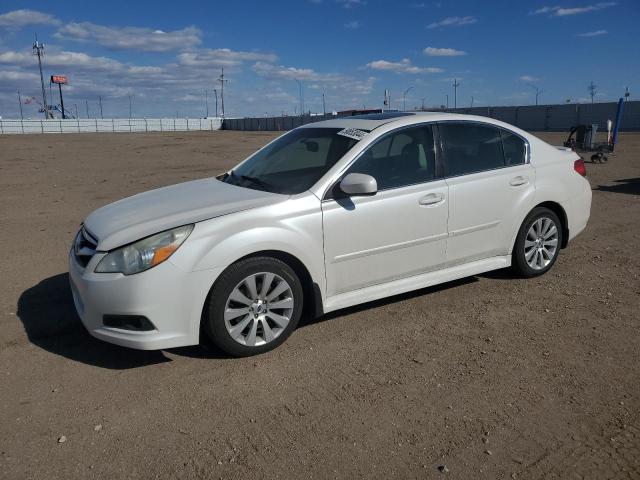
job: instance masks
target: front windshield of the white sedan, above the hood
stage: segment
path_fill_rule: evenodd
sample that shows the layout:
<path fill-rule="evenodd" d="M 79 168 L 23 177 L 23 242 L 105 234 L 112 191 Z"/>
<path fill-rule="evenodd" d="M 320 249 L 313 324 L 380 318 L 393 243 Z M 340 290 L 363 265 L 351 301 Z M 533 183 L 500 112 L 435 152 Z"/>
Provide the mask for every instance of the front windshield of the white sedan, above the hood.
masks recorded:
<path fill-rule="evenodd" d="M 298 128 L 222 177 L 241 187 L 288 195 L 309 190 L 358 140 L 340 128 Z"/>

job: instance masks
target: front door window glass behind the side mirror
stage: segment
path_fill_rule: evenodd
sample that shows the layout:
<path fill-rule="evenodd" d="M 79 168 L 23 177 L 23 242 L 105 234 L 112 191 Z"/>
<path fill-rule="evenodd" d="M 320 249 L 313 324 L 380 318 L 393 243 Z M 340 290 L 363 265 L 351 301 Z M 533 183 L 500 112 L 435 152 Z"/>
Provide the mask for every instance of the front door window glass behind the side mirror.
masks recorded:
<path fill-rule="evenodd" d="M 433 180 L 435 147 L 430 125 L 391 133 L 370 146 L 347 173 L 366 173 L 376 179 L 378 190 Z"/>

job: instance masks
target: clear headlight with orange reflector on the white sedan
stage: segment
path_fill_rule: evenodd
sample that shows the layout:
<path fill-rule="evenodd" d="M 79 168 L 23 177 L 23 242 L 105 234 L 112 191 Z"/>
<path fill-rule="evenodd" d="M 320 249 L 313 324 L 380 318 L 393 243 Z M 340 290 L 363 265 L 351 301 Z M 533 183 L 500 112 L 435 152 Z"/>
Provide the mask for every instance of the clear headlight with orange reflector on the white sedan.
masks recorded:
<path fill-rule="evenodd" d="M 193 230 L 193 225 L 174 228 L 143 238 L 131 245 L 109 252 L 96 267 L 96 273 L 133 275 L 164 262 Z"/>

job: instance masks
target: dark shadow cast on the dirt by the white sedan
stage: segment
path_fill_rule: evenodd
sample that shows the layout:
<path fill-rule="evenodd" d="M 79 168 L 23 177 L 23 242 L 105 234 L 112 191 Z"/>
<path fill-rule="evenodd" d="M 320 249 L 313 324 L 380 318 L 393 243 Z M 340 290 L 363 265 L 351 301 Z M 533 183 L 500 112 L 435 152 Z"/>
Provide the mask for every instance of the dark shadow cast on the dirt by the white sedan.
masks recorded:
<path fill-rule="evenodd" d="M 478 277 L 463 278 L 355 305 L 328 313 L 319 318 L 305 316 L 300 320 L 298 328 L 476 281 L 478 281 Z M 18 299 L 17 313 L 31 343 L 43 350 L 76 362 L 112 370 L 127 370 L 171 361 L 162 350 L 143 351 L 119 347 L 97 340 L 89 335 L 75 311 L 67 273 L 46 278 L 37 285 L 25 290 Z M 195 359 L 229 358 L 228 355 L 204 339 L 200 345 L 167 349 L 166 352 Z"/>

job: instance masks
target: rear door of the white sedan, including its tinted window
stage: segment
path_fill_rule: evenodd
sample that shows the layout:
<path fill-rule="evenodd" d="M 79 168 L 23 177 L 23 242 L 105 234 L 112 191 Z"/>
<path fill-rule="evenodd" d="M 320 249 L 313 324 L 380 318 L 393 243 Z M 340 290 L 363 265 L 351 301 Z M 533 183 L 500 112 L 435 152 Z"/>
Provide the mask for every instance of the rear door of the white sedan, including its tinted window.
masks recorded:
<path fill-rule="evenodd" d="M 449 187 L 448 265 L 507 255 L 519 222 L 533 207 L 528 143 L 477 122 L 442 122 L 437 128 Z"/>

